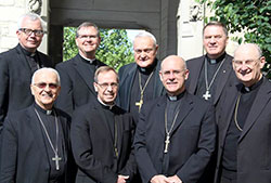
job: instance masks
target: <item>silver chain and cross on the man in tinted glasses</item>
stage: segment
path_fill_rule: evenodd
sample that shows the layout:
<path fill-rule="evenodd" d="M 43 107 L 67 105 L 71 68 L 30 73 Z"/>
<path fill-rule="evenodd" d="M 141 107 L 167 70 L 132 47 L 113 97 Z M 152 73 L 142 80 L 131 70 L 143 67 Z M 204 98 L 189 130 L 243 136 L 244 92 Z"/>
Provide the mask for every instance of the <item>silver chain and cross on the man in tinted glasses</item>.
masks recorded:
<path fill-rule="evenodd" d="M 60 170 L 60 160 L 62 160 L 62 158 L 59 156 L 59 148 L 57 148 L 57 142 L 59 142 L 59 122 L 57 122 L 56 114 L 53 110 L 53 113 L 54 113 L 54 121 L 55 121 L 55 134 L 56 134 L 56 138 L 55 138 L 55 147 L 54 147 L 53 143 L 51 141 L 51 138 L 49 136 L 49 133 L 47 131 L 47 128 L 46 128 L 43 121 L 41 120 L 41 117 L 40 117 L 40 115 L 39 115 L 39 113 L 37 112 L 36 108 L 35 108 L 35 113 L 37 114 L 38 119 L 39 119 L 39 121 L 40 121 L 40 123 L 41 123 L 41 126 L 42 126 L 42 128 L 43 128 L 43 130 L 46 132 L 46 135 L 47 135 L 47 139 L 49 141 L 49 144 L 50 144 L 50 146 L 53 149 L 54 157 L 52 158 L 52 160 L 55 161 L 55 168 L 56 168 L 56 170 Z"/>

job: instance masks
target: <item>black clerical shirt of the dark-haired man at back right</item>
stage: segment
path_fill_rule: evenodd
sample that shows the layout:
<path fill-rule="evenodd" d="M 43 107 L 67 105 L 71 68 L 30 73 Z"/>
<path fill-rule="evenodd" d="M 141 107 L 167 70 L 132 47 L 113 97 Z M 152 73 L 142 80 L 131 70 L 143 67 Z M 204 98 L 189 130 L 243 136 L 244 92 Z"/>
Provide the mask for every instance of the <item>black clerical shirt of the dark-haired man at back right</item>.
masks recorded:
<path fill-rule="evenodd" d="M 223 60 L 225 58 L 225 52 L 224 54 L 222 54 L 221 56 L 219 56 L 216 60 L 210 60 L 207 55 L 205 56 L 205 61 L 207 62 L 207 80 L 208 80 L 208 86 L 210 86 L 210 82 L 214 78 L 215 73 L 217 71 L 217 69 L 219 68 L 220 64 L 223 62 Z M 214 83 L 210 87 L 210 94 L 211 96 L 208 99 L 209 102 L 214 102 L 214 96 L 216 93 L 216 88 L 217 88 L 217 82 L 216 80 L 218 80 L 217 78 L 220 77 L 222 70 L 219 70 Z M 197 82 L 197 88 L 196 88 L 196 95 L 199 97 L 203 97 L 203 95 L 206 92 L 206 80 L 205 80 L 205 63 L 203 64 L 203 67 L 201 69 L 201 74 L 199 74 L 199 78 L 198 78 L 198 82 Z"/>

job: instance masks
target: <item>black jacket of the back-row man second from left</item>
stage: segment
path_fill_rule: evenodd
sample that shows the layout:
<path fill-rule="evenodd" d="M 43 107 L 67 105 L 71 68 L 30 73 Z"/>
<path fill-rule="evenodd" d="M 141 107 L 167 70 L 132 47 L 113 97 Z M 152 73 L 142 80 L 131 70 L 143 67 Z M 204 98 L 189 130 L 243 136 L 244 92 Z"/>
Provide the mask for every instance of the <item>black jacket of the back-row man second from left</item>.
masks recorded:
<path fill-rule="evenodd" d="M 96 60 L 95 68 L 104 65 Z M 55 68 L 61 76 L 61 93 L 56 100 L 59 108 L 72 115 L 77 107 L 96 100 L 93 87 L 95 70 L 90 69 L 79 54 Z"/>

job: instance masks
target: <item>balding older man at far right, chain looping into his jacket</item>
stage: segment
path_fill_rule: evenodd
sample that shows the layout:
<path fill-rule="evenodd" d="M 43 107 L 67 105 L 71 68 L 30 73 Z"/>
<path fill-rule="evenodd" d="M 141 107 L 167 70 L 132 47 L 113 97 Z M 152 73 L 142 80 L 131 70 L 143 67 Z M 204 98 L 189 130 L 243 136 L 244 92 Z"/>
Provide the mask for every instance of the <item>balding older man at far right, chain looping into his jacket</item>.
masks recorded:
<path fill-rule="evenodd" d="M 271 182 L 271 83 L 257 44 L 237 48 L 232 66 L 238 83 L 218 104 L 216 183 Z"/>

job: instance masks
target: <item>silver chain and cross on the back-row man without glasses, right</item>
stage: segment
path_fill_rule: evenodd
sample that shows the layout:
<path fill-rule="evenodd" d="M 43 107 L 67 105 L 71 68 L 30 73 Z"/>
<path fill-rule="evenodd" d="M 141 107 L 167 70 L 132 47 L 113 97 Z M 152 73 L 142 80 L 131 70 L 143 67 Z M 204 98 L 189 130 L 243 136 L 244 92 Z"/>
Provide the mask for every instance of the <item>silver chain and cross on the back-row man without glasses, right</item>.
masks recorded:
<path fill-rule="evenodd" d="M 210 91 L 210 88 L 211 88 L 211 86 L 212 86 L 212 83 L 214 83 L 214 81 L 215 81 L 215 79 L 216 79 L 216 77 L 217 77 L 217 75 L 218 75 L 218 71 L 220 70 L 220 68 L 221 68 L 221 66 L 223 65 L 223 63 L 224 63 L 224 61 L 225 61 L 225 58 L 223 58 L 223 61 L 220 63 L 220 65 L 218 66 L 218 68 L 217 68 L 217 70 L 216 70 L 216 73 L 214 74 L 214 76 L 212 76 L 212 78 L 211 78 L 211 80 L 210 80 L 210 83 L 208 83 L 208 76 L 207 76 L 207 73 L 208 73 L 208 70 L 207 70 L 207 58 L 205 58 L 205 67 L 204 67 L 204 73 L 205 73 L 205 86 L 206 86 L 206 92 L 205 92 L 205 94 L 203 95 L 203 97 L 206 100 L 206 101 L 208 101 L 208 99 L 209 97 L 211 97 L 211 94 L 209 93 L 209 91 Z"/>

